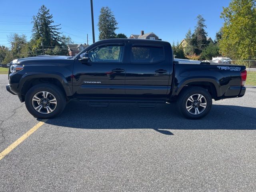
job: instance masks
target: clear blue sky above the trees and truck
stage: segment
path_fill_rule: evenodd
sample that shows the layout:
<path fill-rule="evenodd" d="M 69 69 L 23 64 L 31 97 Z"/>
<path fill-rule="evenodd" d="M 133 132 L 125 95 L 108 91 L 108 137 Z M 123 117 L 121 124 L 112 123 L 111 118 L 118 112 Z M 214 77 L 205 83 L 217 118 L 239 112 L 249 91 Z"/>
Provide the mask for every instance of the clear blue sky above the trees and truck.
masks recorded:
<path fill-rule="evenodd" d="M 98 16 L 102 6 L 114 12 L 118 22 L 117 33 L 140 34 L 141 30 L 154 32 L 162 40 L 172 43 L 181 41 L 188 29 L 194 30 L 196 16 L 206 20 L 208 36 L 215 38 L 223 24 L 222 7 L 230 0 L 94 0 L 95 39 L 98 40 Z M 32 16 L 42 4 L 50 9 L 54 22 L 61 23 L 60 30 L 75 43 L 85 43 L 88 33 L 92 44 L 90 0 L 1 0 L 0 45 L 9 46 L 7 35 L 11 32 L 31 36 Z"/>

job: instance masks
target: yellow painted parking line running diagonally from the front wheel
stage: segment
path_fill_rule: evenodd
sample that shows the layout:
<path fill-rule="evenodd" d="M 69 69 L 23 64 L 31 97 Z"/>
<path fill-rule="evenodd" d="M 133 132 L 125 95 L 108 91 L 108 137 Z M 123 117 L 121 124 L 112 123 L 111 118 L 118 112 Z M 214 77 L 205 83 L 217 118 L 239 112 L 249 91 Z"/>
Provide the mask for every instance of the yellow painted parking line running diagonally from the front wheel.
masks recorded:
<path fill-rule="evenodd" d="M 33 128 L 28 130 L 28 132 L 26 132 L 24 135 L 22 135 L 20 138 L 18 138 L 16 141 L 14 141 L 10 146 L 8 146 L 5 150 L 3 150 L 0 153 L 0 160 L 2 158 L 4 158 L 4 156 L 9 154 L 14 148 L 16 148 L 16 146 L 18 146 L 20 143 L 22 143 L 26 138 L 28 138 L 32 133 L 34 133 L 38 128 L 40 128 L 46 121 L 47 121 L 47 119 L 44 119 L 41 122 L 39 122 L 38 124 L 36 124 Z"/>

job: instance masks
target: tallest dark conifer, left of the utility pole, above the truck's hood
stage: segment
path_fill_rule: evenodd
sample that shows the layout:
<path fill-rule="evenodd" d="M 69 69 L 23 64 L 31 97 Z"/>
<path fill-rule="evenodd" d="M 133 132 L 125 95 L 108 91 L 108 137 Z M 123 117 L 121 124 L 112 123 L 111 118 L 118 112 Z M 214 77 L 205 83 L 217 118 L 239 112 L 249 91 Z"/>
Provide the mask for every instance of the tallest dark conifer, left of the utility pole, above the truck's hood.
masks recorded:
<path fill-rule="evenodd" d="M 32 37 L 38 39 L 42 37 L 42 43 L 44 46 L 58 46 L 62 42 L 62 37 L 60 36 L 61 28 L 59 25 L 53 25 L 52 14 L 46 6 L 42 5 L 36 16 L 33 17 L 33 29 Z"/>

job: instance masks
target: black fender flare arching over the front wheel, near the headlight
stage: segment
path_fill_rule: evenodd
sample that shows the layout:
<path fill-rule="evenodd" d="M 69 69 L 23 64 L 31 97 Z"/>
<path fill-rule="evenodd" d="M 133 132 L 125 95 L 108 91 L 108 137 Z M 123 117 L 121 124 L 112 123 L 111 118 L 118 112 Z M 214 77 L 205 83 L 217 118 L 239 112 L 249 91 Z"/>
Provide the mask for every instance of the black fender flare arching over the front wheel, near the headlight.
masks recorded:
<path fill-rule="evenodd" d="M 57 79 L 60 84 L 62 84 L 62 87 L 66 93 L 66 96 L 72 96 L 72 90 L 70 89 L 70 86 L 68 85 L 68 82 L 66 80 L 66 78 L 63 76 L 63 74 L 59 73 L 59 72 L 29 72 L 26 74 L 23 74 L 22 77 L 20 78 L 20 83 L 19 83 L 19 91 L 22 91 L 22 88 L 24 86 L 24 84 L 28 81 L 28 80 L 32 80 L 32 79 L 36 79 L 36 78 L 54 78 Z"/>

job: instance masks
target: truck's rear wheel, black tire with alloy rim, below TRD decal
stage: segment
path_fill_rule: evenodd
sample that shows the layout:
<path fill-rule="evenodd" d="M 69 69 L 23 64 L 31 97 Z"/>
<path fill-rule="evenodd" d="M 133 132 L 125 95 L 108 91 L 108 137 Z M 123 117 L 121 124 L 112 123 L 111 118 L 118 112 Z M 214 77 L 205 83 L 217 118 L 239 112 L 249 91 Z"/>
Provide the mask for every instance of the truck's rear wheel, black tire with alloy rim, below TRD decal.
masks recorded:
<path fill-rule="evenodd" d="M 198 101 L 196 98 L 199 95 L 202 95 L 203 98 Z M 190 96 L 194 98 L 194 102 L 190 101 L 192 99 L 189 100 Z M 200 119 L 210 112 L 210 109 L 212 107 L 212 96 L 204 88 L 190 86 L 182 90 L 182 92 L 179 94 L 177 106 L 180 113 L 184 115 L 186 118 Z M 196 110 L 196 108 L 198 109 Z"/>

